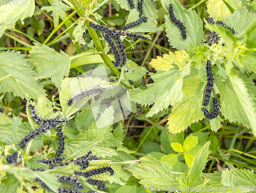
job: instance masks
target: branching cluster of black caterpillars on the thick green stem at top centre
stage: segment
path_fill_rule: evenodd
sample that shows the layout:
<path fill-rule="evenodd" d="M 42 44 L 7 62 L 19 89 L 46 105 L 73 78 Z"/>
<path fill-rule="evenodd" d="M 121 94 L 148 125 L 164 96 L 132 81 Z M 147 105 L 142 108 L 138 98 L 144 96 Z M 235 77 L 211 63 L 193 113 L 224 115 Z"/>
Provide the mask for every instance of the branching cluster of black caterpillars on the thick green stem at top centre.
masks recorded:
<path fill-rule="evenodd" d="M 141 17 L 135 22 L 128 23 L 126 26 L 124 26 L 122 28 L 122 30 L 126 30 L 129 28 L 138 26 L 142 22 L 146 22 L 146 20 L 147 20 L 146 17 Z M 104 33 L 103 38 L 105 39 L 106 42 L 108 42 L 108 44 L 110 45 L 110 48 L 114 54 L 114 57 L 115 57 L 114 66 L 116 68 L 124 66 L 127 61 L 127 56 L 124 51 L 124 47 L 121 42 L 120 36 L 131 36 L 131 37 L 135 37 L 135 38 L 139 38 L 139 39 L 147 39 L 147 37 L 140 35 L 140 34 L 127 33 L 127 32 L 122 32 L 121 30 L 109 29 L 107 27 L 93 23 L 92 21 L 89 22 L 89 26 L 95 30 L 100 30 L 102 33 Z M 116 45 L 111 38 L 113 38 L 116 41 Z"/>

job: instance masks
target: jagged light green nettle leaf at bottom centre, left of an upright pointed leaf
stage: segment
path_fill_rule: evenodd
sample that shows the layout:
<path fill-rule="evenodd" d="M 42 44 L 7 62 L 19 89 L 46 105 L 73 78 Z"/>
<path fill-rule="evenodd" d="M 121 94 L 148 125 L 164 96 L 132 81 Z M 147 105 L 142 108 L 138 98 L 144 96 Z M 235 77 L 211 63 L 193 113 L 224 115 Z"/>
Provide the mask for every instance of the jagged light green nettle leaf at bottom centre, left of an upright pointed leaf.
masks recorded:
<path fill-rule="evenodd" d="M 172 187 L 177 186 L 176 180 L 173 178 L 173 167 L 167 162 L 158 162 L 155 167 L 132 165 L 132 167 L 124 167 L 133 173 L 133 176 L 140 179 L 139 183 L 149 188 L 150 185 L 155 187 L 165 187 L 166 184 Z"/>

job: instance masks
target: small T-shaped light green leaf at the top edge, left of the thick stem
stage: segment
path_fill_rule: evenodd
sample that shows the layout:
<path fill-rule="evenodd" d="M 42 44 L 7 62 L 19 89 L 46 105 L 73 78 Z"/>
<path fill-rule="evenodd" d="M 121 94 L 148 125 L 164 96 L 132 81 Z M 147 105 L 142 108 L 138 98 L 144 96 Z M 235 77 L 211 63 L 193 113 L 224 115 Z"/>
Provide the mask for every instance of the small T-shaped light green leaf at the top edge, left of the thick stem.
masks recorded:
<path fill-rule="evenodd" d="M 41 10 L 46 10 L 47 13 L 52 11 L 51 16 L 53 17 L 54 21 L 54 28 L 56 28 L 59 24 L 59 10 L 62 9 L 63 11 L 69 11 L 70 7 L 62 2 L 59 2 L 59 0 L 53 0 L 51 4 L 52 6 L 42 7 Z"/>

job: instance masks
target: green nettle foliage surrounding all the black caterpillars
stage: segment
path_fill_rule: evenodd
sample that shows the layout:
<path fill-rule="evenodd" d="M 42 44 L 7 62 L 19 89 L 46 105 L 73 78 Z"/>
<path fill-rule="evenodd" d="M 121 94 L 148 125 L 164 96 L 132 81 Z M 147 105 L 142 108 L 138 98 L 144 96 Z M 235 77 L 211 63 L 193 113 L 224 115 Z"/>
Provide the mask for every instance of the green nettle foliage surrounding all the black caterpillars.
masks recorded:
<path fill-rule="evenodd" d="M 91 150 L 101 159 L 90 161 L 88 170 L 111 165 L 114 176 L 96 177 L 107 183 L 104 192 L 156 192 L 152 187 L 174 192 L 162 191 L 166 185 L 179 188 L 176 192 L 256 192 L 255 2 L 143 0 L 148 20 L 130 30 L 145 33 L 148 40 L 123 38 L 127 66 L 116 69 L 108 45 L 88 22 L 120 29 L 139 18 L 138 0 L 134 4 L 131 10 L 127 0 L 1 2 L 1 192 L 46 192 L 35 178 L 57 192 L 62 184 L 56 177 L 79 170 L 74 164 L 49 170 L 37 162 L 55 155 L 56 130 L 37 136 L 25 150 L 16 146 L 39 127 L 28 104 L 41 117 L 68 118 L 63 128 L 66 160 Z M 168 16 L 169 4 L 184 23 L 185 40 Z M 237 33 L 209 25 L 207 15 L 224 20 Z M 208 47 L 212 31 L 219 40 Z M 207 59 L 215 78 L 211 95 L 221 106 L 221 114 L 212 120 L 201 111 Z M 117 82 L 75 78 L 96 67 L 104 67 Z M 114 123 L 112 106 L 94 118 L 91 109 L 67 105 L 74 91 L 98 84 L 125 86 L 132 113 Z M 6 161 L 13 152 L 22 155 L 17 165 Z M 45 171 L 30 170 L 38 167 Z M 83 191 L 93 190 L 86 179 L 80 181 Z"/>

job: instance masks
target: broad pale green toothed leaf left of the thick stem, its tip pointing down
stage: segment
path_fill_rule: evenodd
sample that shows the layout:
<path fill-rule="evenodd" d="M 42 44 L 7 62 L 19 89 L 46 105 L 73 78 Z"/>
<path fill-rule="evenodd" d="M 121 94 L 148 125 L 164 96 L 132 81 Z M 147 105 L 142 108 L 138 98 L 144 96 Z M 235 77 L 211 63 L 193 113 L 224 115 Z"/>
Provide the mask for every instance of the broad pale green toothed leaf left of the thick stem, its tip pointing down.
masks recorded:
<path fill-rule="evenodd" d="M 46 45 L 40 46 L 37 43 L 34 44 L 28 56 L 30 57 L 29 61 L 35 66 L 37 73 L 35 78 L 51 78 L 52 82 L 59 88 L 63 76 L 67 77 L 69 75 L 70 57 L 62 51 L 57 53 Z"/>

